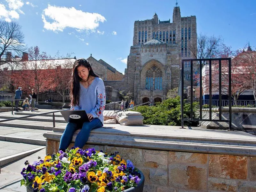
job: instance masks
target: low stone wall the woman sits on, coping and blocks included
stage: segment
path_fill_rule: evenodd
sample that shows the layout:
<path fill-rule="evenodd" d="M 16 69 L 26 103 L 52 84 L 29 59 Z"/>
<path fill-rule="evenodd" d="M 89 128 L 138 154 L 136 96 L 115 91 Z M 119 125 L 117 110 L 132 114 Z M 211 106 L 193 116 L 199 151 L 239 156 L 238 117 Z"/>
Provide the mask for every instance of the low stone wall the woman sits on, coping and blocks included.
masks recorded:
<path fill-rule="evenodd" d="M 144 192 L 256 191 L 256 137 L 251 134 L 197 127 L 108 126 L 116 128 L 92 130 L 84 149 L 119 151 L 145 175 Z M 46 153 L 58 151 L 63 131 L 56 127 L 44 134 Z"/>

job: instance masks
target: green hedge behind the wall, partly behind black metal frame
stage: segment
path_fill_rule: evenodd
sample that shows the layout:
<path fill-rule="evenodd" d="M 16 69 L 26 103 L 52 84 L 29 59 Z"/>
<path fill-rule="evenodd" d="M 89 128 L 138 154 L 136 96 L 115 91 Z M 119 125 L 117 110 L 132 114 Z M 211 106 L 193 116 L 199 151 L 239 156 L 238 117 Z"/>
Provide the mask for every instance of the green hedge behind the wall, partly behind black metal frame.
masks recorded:
<path fill-rule="evenodd" d="M 193 108 L 196 108 L 198 103 L 193 103 Z M 180 97 L 170 98 L 162 101 L 162 103 L 156 103 L 155 106 L 139 106 L 134 108 L 134 111 L 138 111 L 144 116 L 143 123 L 150 125 L 173 125 L 181 126 L 181 106 Z M 190 104 L 184 103 L 184 118 L 190 116 Z M 193 114 L 196 117 L 195 113 Z M 198 122 L 184 121 L 185 126 L 197 126 Z"/>

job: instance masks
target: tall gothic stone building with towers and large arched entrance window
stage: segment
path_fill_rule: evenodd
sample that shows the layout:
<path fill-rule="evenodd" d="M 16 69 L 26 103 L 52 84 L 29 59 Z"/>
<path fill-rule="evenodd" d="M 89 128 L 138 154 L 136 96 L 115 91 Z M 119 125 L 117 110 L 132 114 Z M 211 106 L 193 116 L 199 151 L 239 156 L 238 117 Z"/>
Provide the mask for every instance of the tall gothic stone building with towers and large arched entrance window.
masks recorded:
<path fill-rule="evenodd" d="M 170 19 L 135 21 L 133 45 L 127 58 L 124 79 L 105 85 L 133 93 L 136 104 L 166 99 L 168 90 L 178 87 L 181 60 L 192 58 L 190 44 L 196 44 L 196 16 L 181 17 L 180 7 Z M 187 80 L 190 63 L 184 63 Z"/>

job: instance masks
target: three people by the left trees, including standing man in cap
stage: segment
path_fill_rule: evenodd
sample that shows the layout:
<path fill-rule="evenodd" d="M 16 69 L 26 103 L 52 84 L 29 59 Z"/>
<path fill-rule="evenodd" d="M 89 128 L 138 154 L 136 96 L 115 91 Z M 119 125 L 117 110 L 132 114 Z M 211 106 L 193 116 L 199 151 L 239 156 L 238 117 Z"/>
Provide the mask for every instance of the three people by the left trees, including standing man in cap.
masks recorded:
<path fill-rule="evenodd" d="M 15 110 L 19 110 L 19 102 L 22 96 L 22 87 L 19 87 L 16 91 L 15 91 Z M 28 99 L 29 97 L 29 99 Z M 25 111 L 29 111 L 30 107 L 32 107 L 32 111 L 35 111 L 35 103 L 37 101 L 37 94 L 35 92 L 35 89 L 31 90 L 31 93 L 28 95 L 28 97 L 25 98 L 25 100 L 22 102 L 21 106 Z M 34 100 L 33 100 L 34 99 Z"/>

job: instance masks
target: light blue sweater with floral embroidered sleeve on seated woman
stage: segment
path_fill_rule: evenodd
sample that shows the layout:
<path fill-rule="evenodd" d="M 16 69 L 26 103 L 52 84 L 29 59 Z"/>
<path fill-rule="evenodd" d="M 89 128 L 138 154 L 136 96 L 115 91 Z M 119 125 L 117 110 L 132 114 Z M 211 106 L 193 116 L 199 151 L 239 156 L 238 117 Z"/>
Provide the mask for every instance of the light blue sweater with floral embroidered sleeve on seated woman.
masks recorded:
<path fill-rule="evenodd" d="M 105 109 L 106 96 L 103 80 L 95 77 L 88 88 L 80 84 L 79 105 L 71 106 L 74 110 L 85 110 L 91 113 L 94 118 L 99 118 L 103 125 L 103 111 Z"/>

